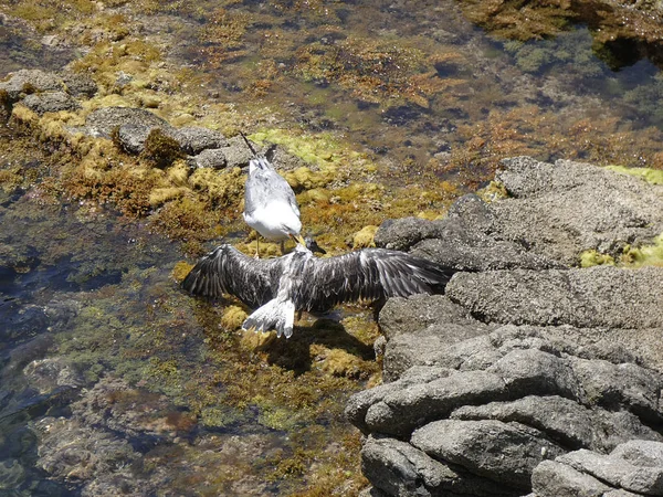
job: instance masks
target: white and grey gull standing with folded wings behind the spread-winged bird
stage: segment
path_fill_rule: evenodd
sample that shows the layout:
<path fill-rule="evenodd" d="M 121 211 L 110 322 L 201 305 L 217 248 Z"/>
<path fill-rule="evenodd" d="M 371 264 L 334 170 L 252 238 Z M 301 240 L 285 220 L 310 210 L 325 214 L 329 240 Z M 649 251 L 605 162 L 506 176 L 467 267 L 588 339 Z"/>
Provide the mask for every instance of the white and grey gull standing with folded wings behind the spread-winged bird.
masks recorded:
<path fill-rule="evenodd" d="M 249 161 L 249 178 L 244 184 L 244 221 L 265 239 L 281 242 L 281 253 L 287 239 L 305 244 L 299 234 L 302 221 L 295 192 L 270 161 L 257 155 L 244 134 L 241 135 L 254 156 Z M 255 258 L 257 256 L 256 239 Z"/>

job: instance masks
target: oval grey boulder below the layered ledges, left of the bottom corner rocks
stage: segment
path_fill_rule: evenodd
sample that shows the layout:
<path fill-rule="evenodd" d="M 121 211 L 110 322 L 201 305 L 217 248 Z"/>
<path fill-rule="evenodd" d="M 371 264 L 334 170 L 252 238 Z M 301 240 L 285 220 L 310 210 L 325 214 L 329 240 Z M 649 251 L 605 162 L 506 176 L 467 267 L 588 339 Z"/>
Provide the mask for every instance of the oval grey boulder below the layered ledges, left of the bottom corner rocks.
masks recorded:
<path fill-rule="evenodd" d="M 441 420 L 412 433 L 414 447 L 495 482 L 529 489 L 534 468 L 565 453 L 519 423 Z"/>

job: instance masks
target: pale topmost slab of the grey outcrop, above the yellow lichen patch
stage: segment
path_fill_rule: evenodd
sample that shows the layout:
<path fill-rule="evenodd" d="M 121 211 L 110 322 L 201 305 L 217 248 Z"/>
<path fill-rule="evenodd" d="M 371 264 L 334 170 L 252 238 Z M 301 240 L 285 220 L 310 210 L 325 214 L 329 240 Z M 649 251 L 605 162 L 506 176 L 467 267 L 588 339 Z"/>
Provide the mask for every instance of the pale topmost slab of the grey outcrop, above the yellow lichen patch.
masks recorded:
<path fill-rule="evenodd" d="M 663 187 L 568 160 L 502 165 L 496 179 L 514 198 L 492 204 L 498 232 L 535 253 L 573 264 L 583 251 L 618 256 L 663 232 Z"/>

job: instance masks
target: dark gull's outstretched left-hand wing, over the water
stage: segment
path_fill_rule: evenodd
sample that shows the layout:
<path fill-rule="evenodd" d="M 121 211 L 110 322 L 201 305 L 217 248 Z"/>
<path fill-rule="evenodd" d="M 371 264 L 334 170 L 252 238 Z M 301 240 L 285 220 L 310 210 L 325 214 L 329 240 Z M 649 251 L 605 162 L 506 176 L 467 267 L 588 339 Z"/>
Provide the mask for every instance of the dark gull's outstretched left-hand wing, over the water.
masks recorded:
<path fill-rule="evenodd" d="M 260 307 L 276 296 L 282 271 L 280 258 L 254 260 L 223 244 L 198 261 L 182 287 L 210 298 L 231 294 L 250 307 Z"/>

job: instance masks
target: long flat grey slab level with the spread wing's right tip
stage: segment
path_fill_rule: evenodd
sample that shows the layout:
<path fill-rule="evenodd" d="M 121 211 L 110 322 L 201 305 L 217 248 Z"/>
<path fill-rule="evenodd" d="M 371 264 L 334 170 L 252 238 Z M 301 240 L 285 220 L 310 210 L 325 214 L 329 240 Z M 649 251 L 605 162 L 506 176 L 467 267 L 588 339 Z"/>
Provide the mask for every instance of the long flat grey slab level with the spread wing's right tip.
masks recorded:
<path fill-rule="evenodd" d="M 663 327 L 663 268 L 461 273 L 451 300 L 482 320 L 579 328 Z M 636 296 L 636 298 L 634 298 Z"/>

